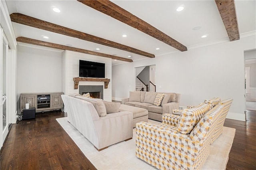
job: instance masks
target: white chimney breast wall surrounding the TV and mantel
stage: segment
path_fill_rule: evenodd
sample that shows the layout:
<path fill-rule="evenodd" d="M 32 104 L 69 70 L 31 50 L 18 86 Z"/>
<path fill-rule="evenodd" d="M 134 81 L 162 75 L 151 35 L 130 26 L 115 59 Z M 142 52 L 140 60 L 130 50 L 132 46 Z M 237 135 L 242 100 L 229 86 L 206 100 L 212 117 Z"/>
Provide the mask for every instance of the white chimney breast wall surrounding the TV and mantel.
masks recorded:
<path fill-rule="evenodd" d="M 78 89 L 74 89 L 73 77 L 79 77 L 79 60 L 94 61 L 98 63 L 105 63 L 105 78 L 110 79 L 108 89 L 103 89 L 103 98 L 105 101 L 111 101 L 112 97 L 112 59 L 100 57 L 96 55 L 78 53 L 74 51 L 65 51 L 62 54 L 63 60 L 62 70 L 66 73 L 66 79 L 62 79 L 63 91 L 65 94 L 79 93 L 79 85 L 103 85 L 104 82 L 97 81 L 80 81 Z"/>

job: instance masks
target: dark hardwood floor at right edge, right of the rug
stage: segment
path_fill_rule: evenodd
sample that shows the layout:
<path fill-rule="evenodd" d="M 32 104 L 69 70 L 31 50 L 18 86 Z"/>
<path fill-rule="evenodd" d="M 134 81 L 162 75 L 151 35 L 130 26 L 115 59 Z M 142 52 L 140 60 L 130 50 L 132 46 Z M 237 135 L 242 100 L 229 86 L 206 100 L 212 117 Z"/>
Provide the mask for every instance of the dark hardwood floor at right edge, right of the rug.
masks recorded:
<path fill-rule="evenodd" d="M 225 127 L 236 129 L 227 170 L 256 170 L 256 111 L 246 111 L 246 121 L 226 119 Z"/>

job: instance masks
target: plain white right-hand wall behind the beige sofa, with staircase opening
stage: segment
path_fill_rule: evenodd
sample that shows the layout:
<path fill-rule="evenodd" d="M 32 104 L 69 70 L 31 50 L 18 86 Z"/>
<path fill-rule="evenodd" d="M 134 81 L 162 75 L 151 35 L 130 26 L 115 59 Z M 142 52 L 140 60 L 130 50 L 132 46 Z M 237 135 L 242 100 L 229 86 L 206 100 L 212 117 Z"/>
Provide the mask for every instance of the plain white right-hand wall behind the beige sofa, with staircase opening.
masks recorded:
<path fill-rule="evenodd" d="M 112 67 L 114 99 L 134 91 L 134 68 L 156 64 L 156 91 L 181 93 L 181 106 L 212 97 L 233 98 L 228 118 L 245 121 L 244 50 L 256 47 L 256 36 L 189 49 Z M 150 64 L 148 64 L 150 63 Z"/>

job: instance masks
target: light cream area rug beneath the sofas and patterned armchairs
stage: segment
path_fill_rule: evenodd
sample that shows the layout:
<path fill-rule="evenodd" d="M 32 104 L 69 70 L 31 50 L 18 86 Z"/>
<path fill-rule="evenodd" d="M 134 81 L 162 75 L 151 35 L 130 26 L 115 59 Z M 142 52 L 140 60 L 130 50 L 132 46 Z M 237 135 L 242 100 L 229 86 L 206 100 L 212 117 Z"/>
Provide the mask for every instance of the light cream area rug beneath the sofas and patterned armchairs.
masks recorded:
<path fill-rule="evenodd" d="M 67 121 L 67 117 L 56 119 L 72 138 L 84 155 L 98 170 L 153 170 L 156 169 L 135 156 L 135 128 L 132 140 L 119 142 L 98 152 L 76 128 Z M 160 122 L 148 120 L 153 124 Z M 235 136 L 235 129 L 224 127 L 223 133 L 211 144 L 203 170 L 225 170 L 228 155 Z"/>

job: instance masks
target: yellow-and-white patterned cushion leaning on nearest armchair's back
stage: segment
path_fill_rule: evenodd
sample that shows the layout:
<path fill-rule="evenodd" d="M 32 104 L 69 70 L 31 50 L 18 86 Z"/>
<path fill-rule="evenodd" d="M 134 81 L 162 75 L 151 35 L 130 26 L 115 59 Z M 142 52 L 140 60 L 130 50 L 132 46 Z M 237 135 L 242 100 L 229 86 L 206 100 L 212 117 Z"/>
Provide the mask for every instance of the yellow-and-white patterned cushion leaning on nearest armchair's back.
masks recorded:
<path fill-rule="evenodd" d="M 177 131 L 183 134 L 190 133 L 200 119 L 210 110 L 210 105 L 203 103 L 199 107 L 184 109 L 180 115 Z"/>

